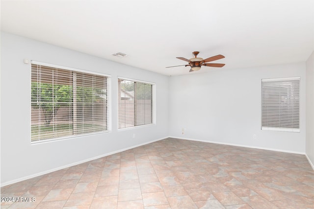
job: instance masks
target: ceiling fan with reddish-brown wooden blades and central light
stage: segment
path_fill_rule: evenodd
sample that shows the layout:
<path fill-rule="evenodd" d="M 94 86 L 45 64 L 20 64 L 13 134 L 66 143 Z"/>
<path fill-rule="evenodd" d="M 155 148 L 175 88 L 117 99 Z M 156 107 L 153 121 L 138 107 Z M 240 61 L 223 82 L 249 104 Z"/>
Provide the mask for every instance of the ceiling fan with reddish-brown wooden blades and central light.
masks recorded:
<path fill-rule="evenodd" d="M 185 66 L 185 67 L 190 66 L 191 67 L 190 72 L 192 72 L 192 71 L 200 70 L 201 66 L 221 68 L 225 65 L 225 64 L 220 64 L 220 63 L 207 63 L 207 62 L 211 62 L 214 60 L 219 60 L 219 59 L 225 58 L 225 56 L 223 56 L 221 54 L 213 56 L 213 57 L 209 57 L 209 58 L 204 60 L 203 58 L 196 57 L 198 55 L 198 53 L 200 53 L 200 52 L 199 51 L 193 51 L 192 54 L 195 57 L 193 57 L 189 60 L 185 59 L 183 57 L 176 57 L 180 60 L 188 62 L 188 65 L 177 65 L 177 66 L 171 66 L 171 67 L 166 67 L 166 68 L 173 68 L 173 67 L 179 67 L 179 66 Z"/>

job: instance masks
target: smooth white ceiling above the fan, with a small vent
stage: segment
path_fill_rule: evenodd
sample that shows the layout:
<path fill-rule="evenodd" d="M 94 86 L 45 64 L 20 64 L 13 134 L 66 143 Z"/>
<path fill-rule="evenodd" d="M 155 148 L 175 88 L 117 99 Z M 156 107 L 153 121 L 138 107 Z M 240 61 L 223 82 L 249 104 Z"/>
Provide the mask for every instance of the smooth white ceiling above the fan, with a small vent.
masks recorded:
<path fill-rule="evenodd" d="M 1 31 L 165 75 L 188 74 L 165 67 L 187 64 L 176 57 L 193 51 L 224 55 L 213 62 L 224 70 L 304 62 L 314 50 L 314 0 L 1 0 L 0 7 Z"/>

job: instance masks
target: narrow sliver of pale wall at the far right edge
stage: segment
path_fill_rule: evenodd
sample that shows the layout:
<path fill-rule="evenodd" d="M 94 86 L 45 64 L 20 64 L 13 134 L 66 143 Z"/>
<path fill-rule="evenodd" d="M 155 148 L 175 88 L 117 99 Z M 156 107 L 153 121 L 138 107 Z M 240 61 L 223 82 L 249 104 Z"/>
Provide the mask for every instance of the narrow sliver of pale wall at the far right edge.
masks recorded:
<path fill-rule="evenodd" d="M 314 169 L 314 51 L 306 62 L 306 154 Z"/>

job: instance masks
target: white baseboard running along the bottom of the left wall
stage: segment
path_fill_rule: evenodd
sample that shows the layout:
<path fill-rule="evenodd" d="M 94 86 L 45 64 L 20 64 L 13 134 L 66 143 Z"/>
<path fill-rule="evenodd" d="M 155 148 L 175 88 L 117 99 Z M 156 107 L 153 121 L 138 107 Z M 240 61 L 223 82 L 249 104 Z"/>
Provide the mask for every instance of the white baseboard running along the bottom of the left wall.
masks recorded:
<path fill-rule="evenodd" d="M 147 142 L 144 142 L 144 143 L 141 143 L 141 144 L 137 144 L 137 145 L 134 145 L 134 146 L 131 146 L 131 147 L 127 147 L 127 148 L 121 149 L 121 150 L 117 150 L 117 151 L 114 151 L 114 152 L 110 152 L 110 153 L 106 153 L 106 154 L 103 154 L 103 155 L 99 155 L 99 156 L 96 156 L 96 157 L 93 157 L 93 158 L 89 158 L 89 159 L 86 159 L 86 160 L 83 160 L 83 161 L 78 161 L 78 162 L 75 162 L 75 163 L 66 164 L 66 165 L 63 165 L 63 166 L 60 166 L 60 167 L 56 167 L 56 168 L 53 168 L 53 169 L 50 169 L 50 170 L 46 170 L 46 171 L 43 171 L 43 172 L 40 172 L 40 173 L 35 173 L 35 174 L 29 175 L 29 176 L 25 176 L 25 177 L 22 177 L 22 178 L 19 178 L 19 179 L 15 179 L 15 180 L 12 180 L 12 181 L 4 182 L 4 183 L 1 184 L 1 187 L 2 186 L 11 185 L 11 184 L 14 184 L 14 183 L 17 183 L 17 182 L 22 182 L 22 181 L 27 180 L 27 179 L 31 179 L 31 178 L 34 178 L 34 177 L 37 177 L 37 176 L 45 175 L 47 173 L 51 173 L 51 172 L 54 172 L 54 171 L 57 171 L 57 170 L 61 170 L 61 169 L 67 168 L 67 167 L 71 167 L 71 166 L 74 166 L 74 165 L 78 165 L 78 164 L 81 164 L 81 163 L 86 163 L 88 161 L 93 161 L 93 160 L 96 160 L 96 159 L 99 159 L 99 158 L 103 158 L 103 157 L 106 157 L 106 156 L 109 156 L 109 155 L 113 155 L 113 154 L 116 154 L 116 153 L 119 153 L 119 152 L 123 152 L 123 151 L 129 150 L 129 149 L 133 149 L 135 147 L 139 147 L 139 146 L 142 146 L 142 145 L 145 145 L 145 144 L 149 144 L 149 143 L 152 143 L 152 142 L 155 142 L 155 141 L 159 141 L 159 140 L 162 140 L 162 139 L 167 139 L 167 138 L 168 137 L 147 141 Z"/>

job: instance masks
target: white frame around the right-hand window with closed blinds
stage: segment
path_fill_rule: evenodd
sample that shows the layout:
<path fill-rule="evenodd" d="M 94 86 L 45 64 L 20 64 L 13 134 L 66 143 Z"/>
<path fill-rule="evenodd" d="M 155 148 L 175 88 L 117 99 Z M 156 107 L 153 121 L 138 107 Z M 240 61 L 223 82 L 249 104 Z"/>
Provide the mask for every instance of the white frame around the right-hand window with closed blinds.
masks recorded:
<path fill-rule="evenodd" d="M 271 127 L 271 126 L 263 126 L 263 82 L 280 82 L 280 81 L 297 81 L 298 82 L 298 100 L 297 100 L 297 105 L 298 105 L 298 112 L 294 111 L 292 108 L 292 111 L 290 110 L 290 117 L 293 115 L 293 113 L 298 113 L 298 123 L 297 123 L 297 128 L 292 128 L 292 127 Z M 297 91 L 297 90 L 293 90 Z M 277 102 L 279 99 L 277 99 Z M 293 100 L 295 102 L 295 100 Z M 267 79 L 262 79 L 261 80 L 261 130 L 269 130 L 269 131 L 282 131 L 282 132 L 294 132 L 294 133 L 300 133 L 300 109 L 301 109 L 301 77 L 285 77 L 285 78 L 267 78 Z M 280 118 L 280 117 L 278 117 Z M 267 119 L 267 117 L 265 118 Z M 294 124 L 293 124 L 294 125 Z"/>

